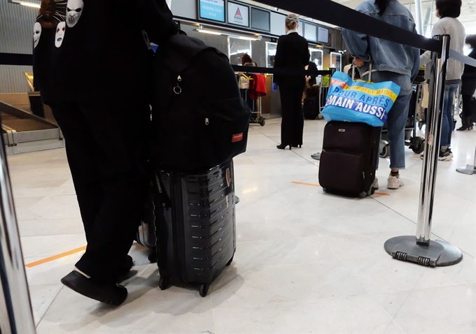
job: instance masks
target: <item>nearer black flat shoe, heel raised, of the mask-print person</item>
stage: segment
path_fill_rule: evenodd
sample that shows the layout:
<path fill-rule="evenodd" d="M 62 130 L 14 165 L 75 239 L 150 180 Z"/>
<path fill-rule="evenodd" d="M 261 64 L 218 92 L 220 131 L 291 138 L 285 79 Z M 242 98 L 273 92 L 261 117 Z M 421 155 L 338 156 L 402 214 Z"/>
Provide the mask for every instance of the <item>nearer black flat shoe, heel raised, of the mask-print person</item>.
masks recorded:
<path fill-rule="evenodd" d="M 127 289 L 124 286 L 113 282 L 97 282 L 77 271 L 71 271 L 61 282 L 69 289 L 104 304 L 120 305 L 127 298 Z"/>

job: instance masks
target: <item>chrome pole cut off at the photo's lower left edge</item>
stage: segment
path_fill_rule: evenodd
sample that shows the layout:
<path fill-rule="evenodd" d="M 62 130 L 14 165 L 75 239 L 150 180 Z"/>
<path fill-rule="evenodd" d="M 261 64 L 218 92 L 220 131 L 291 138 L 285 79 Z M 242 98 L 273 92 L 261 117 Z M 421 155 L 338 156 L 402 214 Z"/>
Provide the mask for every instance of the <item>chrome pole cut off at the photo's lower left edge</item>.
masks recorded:
<path fill-rule="evenodd" d="M 31 312 L 5 146 L 3 136 L 0 137 L 0 298 L 3 298 L 3 303 L 0 303 L 0 333 L 34 334 L 35 322 Z"/>

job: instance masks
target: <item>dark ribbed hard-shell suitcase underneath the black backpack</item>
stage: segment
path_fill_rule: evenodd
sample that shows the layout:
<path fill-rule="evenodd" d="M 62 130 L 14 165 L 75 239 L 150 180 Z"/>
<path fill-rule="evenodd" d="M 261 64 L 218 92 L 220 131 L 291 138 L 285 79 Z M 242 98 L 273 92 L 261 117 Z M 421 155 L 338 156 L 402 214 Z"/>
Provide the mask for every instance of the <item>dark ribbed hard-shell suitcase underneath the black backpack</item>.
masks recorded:
<path fill-rule="evenodd" d="M 179 279 L 201 284 L 200 296 L 207 296 L 211 282 L 232 263 L 236 249 L 233 174 L 232 160 L 204 173 L 158 173 L 162 195 L 157 196 L 155 224 L 160 289 L 167 289 L 170 279 Z"/>

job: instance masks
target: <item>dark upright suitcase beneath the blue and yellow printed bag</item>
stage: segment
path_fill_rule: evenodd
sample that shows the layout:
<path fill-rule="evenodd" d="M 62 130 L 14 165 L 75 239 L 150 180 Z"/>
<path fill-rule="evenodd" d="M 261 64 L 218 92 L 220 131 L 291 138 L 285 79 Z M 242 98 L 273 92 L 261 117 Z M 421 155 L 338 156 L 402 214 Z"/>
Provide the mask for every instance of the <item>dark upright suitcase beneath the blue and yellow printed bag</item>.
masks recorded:
<path fill-rule="evenodd" d="M 374 194 L 381 128 L 328 122 L 324 129 L 319 184 L 324 191 L 366 197 Z"/>

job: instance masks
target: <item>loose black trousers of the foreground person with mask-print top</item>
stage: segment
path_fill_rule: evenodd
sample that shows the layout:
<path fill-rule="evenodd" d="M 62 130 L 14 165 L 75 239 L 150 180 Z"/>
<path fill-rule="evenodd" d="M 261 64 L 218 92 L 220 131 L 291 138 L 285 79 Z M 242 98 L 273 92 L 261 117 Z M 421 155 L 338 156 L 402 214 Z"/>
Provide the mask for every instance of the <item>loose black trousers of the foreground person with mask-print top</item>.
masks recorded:
<path fill-rule="evenodd" d="M 76 267 L 109 281 L 129 252 L 144 211 L 150 109 L 145 103 L 51 107 L 66 140 L 87 239 Z"/>

